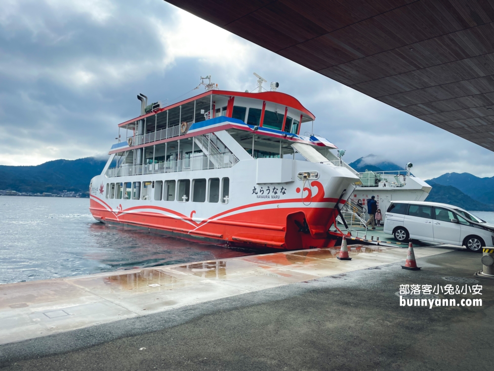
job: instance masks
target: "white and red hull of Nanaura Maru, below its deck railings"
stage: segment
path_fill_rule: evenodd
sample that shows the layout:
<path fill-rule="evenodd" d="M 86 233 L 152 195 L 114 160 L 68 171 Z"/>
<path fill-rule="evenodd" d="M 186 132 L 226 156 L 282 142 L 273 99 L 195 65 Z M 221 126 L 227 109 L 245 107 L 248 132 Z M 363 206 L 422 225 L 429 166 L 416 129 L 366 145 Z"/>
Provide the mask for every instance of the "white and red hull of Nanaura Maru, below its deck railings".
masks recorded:
<path fill-rule="evenodd" d="M 106 183 L 120 180 L 101 176 L 102 179 L 93 179 L 92 184 L 102 184 L 102 191 L 98 192 L 98 187 L 96 192 L 91 191 L 90 211 L 95 219 L 110 225 L 131 226 L 219 245 L 296 250 L 330 247 L 336 243 L 338 236 L 329 234 L 328 230 L 337 216 L 336 203 L 339 202 L 341 208 L 351 193 L 349 188 L 353 189 L 353 174 L 342 168 L 311 164 L 311 170 L 319 170 L 320 179 L 259 185 L 251 183 L 249 177 L 233 174 L 248 174 L 248 169 L 242 167 L 255 165 L 256 161 L 247 162 L 251 164 L 239 163 L 232 169 L 222 170 L 231 177 L 232 201 L 228 204 L 108 200 L 102 197 Z M 307 163 L 293 162 L 298 163 L 294 164 L 294 170 L 299 166 L 307 169 Z M 191 173 L 197 173 L 191 178 L 202 177 L 200 172 Z M 180 179 L 186 174 L 167 176 Z M 221 178 L 223 174 L 216 176 Z M 163 179 L 163 175 L 154 177 Z M 151 179 L 149 176 L 135 178 Z M 268 188 L 271 194 L 267 194 Z M 274 188 L 276 195 L 272 194 Z"/>

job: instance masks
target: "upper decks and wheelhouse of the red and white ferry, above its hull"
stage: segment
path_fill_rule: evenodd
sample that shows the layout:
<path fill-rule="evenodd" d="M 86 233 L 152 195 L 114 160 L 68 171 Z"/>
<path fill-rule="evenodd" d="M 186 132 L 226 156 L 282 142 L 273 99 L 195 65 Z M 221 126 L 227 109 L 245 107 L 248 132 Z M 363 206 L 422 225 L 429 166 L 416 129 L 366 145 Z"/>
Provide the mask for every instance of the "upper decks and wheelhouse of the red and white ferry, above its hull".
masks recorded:
<path fill-rule="evenodd" d="M 315 117 L 285 93 L 211 89 L 166 107 L 147 105 L 144 95 L 139 99 L 141 116 L 119 125 L 119 138 L 125 134 L 112 146 L 107 177 L 229 168 L 242 160 L 295 158 L 295 151 L 309 161 L 339 162 L 328 140 L 300 135 L 301 124 Z M 107 187 L 107 198 L 115 192 L 131 197 L 130 185 L 113 187 Z"/>

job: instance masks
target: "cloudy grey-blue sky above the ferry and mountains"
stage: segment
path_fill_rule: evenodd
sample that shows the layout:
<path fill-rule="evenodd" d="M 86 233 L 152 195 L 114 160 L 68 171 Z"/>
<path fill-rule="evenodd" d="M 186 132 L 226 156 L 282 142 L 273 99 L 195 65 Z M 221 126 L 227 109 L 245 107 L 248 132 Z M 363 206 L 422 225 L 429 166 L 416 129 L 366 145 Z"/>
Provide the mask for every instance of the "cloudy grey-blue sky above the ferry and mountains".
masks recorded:
<path fill-rule="evenodd" d="M 200 76 L 252 91 L 257 72 L 316 116 L 314 131 L 432 178 L 494 176 L 494 153 L 230 34 L 163 0 L 1 0 L 1 165 L 108 153 L 137 93 L 174 102 Z M 167 99 L 167 100 L 166 100 Z M 302 133 L 310 124 L 302 126 Z"/>

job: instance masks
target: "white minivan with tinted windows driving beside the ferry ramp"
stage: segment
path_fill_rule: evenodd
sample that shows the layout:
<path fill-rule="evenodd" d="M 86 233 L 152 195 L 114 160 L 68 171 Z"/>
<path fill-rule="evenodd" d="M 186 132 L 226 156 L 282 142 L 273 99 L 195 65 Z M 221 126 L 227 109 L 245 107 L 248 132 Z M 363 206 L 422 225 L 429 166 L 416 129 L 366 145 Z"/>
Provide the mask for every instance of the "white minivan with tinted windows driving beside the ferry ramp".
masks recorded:
<path fill-rule="evenodd" d="M 391 201 L 384 233 L 399 242 L 409 238 L 466 246 L 470 251 L 494 245 L 494 225 L 459 207 L 437 202 Z"/>

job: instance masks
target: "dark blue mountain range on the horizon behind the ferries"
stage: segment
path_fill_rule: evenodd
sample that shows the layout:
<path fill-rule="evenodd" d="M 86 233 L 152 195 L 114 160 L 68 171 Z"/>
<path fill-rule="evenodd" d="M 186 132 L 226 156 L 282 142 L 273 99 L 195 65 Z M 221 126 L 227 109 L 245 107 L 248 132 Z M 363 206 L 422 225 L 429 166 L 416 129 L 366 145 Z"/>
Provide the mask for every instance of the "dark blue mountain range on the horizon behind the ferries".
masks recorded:
<path fill-rule="evenodd" d="M 55 160 L 37 166 L 0 165 L 0 189 L 17 192 L 58 193 L 63 190 L 88 194 L 89 181 L 101 174 L 106 159 Z M 403 167 L 382 161 L 373 154 L 349 164 L 358 172 L 396 171 Z M 451 203 L 467 210 L 494 211 L 494 177 L 447 173 L 426 181 L 432 185 L 427 201 Z"/>

